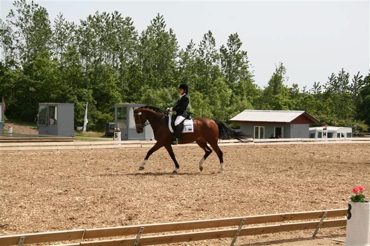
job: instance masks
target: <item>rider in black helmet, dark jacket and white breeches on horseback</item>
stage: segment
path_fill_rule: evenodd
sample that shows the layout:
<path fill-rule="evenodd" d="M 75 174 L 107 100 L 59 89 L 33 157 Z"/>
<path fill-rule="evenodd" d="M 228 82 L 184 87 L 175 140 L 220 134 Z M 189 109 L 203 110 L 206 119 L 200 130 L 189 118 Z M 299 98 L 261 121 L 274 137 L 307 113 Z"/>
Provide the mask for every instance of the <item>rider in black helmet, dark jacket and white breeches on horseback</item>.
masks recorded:
<path fill-rule="evenodd" d="M 167 111 L 176 112 L 175 130 L 173 133 L 173 143 L 172 143 L 174 145 L 181 144 L 180 123 L 188 117 L 187 112 L 187 107 L 189 104 L 188 92 L 189 92 L 188 85 L 181 83 L 178 87 L 178 93 L 180 94 L 180 97 L 177 100 L 176 106 L 167 108 Z"/>

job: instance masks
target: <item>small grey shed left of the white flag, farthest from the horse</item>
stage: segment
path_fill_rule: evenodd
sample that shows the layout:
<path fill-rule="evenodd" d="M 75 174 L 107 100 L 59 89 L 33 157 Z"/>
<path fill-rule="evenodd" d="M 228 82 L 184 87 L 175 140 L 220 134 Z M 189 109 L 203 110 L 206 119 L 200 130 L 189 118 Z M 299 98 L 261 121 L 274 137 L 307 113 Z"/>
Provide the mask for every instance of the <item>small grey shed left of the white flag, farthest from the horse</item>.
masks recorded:
<path fill-rule="evenodd" d="M 39 134 L 74 136 L 74 103 L 39 103 Z"/>

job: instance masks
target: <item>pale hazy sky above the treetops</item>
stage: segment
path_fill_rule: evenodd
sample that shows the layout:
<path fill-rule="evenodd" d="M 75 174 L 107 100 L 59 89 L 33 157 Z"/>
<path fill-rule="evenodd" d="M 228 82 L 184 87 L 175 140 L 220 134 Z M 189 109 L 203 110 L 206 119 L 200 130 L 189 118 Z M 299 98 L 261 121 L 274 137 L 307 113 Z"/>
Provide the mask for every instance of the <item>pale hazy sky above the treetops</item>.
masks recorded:
<path fill-rule="evenodd" d="M 96 11 L 130 16 L 139 33 L 158 13 L 176 34 L 180 48 L 193 39 L 199 44 L 211 30 L 216 46 L 227 44 L 237 32 L 242 49 L 261 88 L 275 65 L 287 69 L 286 85 L 312 88 L 325 84 L 342 67 L 352 79 L 370 69 L 369 1 L 34 1 L 45 7 L 51 23 L 58 13 L 79 24 Z M 0 18 L 6 19 L 13 1 L 0 0 Z"/>

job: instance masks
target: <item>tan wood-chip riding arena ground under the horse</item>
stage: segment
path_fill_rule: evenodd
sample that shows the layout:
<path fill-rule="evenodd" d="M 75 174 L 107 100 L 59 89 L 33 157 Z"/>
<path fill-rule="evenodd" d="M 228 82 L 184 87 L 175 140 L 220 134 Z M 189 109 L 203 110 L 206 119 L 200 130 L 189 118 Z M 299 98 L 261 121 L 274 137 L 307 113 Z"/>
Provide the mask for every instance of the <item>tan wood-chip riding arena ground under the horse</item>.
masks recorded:
<path fill-rule="evenodd" d="M 148 149 L 0 151 L 0 235 L 346 208 L 351 188 L 370 189 L 370 145 L 222 147 L 212 153 L 165 149 L 144 171 Z M 368 191 L 366 197 L 370 197 Z M 343 245 L 345 228 L 245 236 L 244 245 Z M 228 245 L 231 239 L 174 245 Z"/>

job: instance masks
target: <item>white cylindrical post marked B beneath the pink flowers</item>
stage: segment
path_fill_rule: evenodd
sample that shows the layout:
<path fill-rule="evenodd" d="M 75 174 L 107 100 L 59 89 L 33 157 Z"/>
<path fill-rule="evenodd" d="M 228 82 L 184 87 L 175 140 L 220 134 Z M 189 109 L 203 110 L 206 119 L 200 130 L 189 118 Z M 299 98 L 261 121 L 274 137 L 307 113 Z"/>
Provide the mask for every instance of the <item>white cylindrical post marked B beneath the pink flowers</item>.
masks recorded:
<path fill-rule="evenodd" d="M 348 203 L 346 246 L 370 245 L 370 202 Z"/>

